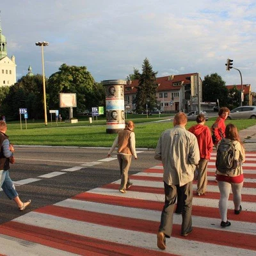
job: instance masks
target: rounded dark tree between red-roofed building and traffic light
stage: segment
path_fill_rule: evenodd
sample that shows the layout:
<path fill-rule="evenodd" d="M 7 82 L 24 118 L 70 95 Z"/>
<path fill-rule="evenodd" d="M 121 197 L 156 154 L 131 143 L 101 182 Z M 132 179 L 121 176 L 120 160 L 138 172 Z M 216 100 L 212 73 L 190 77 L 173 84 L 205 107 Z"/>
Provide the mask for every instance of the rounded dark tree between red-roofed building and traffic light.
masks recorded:
<path fill-rule="evenodd" d="M 217 99 L 221 106 L 227 106 L 228 89 L 225 86 L 225 81 L 217 73 L 204 77 L 202 84 L 202 97 L 204 102 L 216 102 Z"/>

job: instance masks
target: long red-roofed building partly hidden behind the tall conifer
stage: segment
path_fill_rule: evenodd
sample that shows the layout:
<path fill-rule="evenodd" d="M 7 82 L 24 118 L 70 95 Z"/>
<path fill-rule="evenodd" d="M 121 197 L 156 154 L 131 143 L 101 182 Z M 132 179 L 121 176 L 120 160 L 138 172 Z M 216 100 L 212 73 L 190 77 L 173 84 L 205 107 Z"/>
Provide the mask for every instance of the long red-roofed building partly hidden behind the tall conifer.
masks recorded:
<path fill-rule="evenodd" d="M 198 94 L 202 102 L 202 79 L 198 73 L 180 74 L 157 77 L 158 84 L 156 98 L 158 109 L 164 113 L 198 110 Z M 136 97 L 139 81 L 128 81 L 125 85 L 125 108 L 134 111 L 136 106 L 132 101 Z M 202 104 L 201 109 L 213 108 L 215 102 Z"/>

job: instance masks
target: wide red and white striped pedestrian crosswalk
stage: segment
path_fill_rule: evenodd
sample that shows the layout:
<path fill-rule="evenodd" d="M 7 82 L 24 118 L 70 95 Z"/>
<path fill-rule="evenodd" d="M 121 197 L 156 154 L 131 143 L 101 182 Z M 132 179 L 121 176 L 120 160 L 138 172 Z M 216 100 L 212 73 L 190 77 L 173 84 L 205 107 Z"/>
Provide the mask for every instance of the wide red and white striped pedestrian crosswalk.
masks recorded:
<path fill-rule="evenodd" d="M 182 216 L 174 214 L 166 250 L 156 234 L 164 202 L 163 166 L 131 175 L 133 186 L 122 194 L 120 180 L 0 225 L 0 255 L 256 255 L 256 152 L 243 164 L 243 211 L 231 226 L 220 227 L 214 181 L 214 157 L 208 164 L 207 195 L 193 198 L 193 232 L 180 236 Z M 196 182 L 193 184 L 194 195 Z"/>

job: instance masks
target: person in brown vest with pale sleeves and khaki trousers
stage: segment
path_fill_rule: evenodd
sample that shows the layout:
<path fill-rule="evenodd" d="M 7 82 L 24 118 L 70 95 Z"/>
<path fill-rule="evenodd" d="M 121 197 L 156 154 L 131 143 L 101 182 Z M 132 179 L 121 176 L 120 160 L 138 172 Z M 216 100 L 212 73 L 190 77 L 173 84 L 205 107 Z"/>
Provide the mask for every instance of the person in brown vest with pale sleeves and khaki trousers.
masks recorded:
<path fill-rule="evenodd" d="M 120 167 L 121 184 L 119 191 L 126 193 L 126 189 L 132 186 L 132 182 L 129 179 L 129 168 L 131 165 L 132 156 L 137 159 L 136 154 L 136 140 L 134 134 L 134 122 L 129 121 L 125 124 L 125 129 L 118 132 L 115 141 L 111 149 L 108 152 L 108 157 L 111 156 L 112 152 L 117 149 L 117 159 Z"/>

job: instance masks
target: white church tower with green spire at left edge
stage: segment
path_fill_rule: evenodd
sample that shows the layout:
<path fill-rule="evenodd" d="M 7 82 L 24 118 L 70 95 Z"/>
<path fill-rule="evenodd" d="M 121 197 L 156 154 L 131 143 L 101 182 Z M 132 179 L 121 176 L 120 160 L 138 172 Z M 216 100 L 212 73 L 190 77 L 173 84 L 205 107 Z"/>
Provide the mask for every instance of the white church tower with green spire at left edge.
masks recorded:
<path fill-rule="evenodd" d="M 2 34 L 0 17 L 0 86 L 11 86 L 16 83 L 15 57 L 12 60 L 7 56 L 6 38 Z"/>

